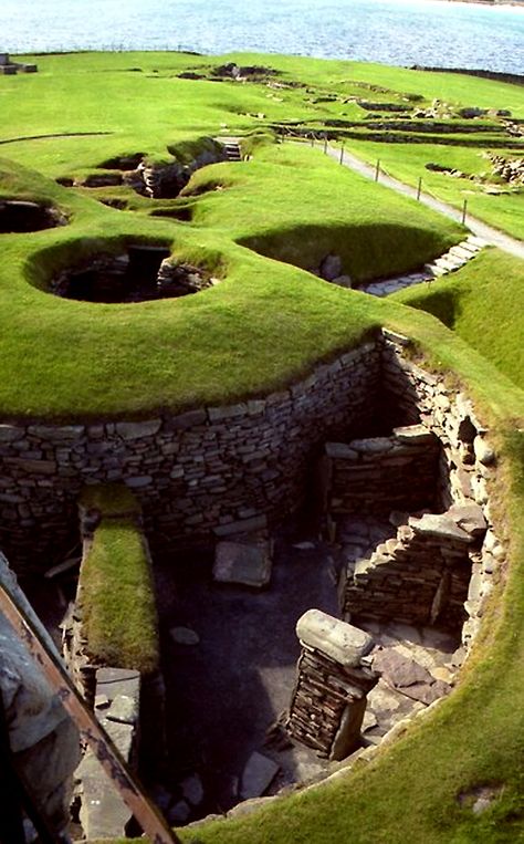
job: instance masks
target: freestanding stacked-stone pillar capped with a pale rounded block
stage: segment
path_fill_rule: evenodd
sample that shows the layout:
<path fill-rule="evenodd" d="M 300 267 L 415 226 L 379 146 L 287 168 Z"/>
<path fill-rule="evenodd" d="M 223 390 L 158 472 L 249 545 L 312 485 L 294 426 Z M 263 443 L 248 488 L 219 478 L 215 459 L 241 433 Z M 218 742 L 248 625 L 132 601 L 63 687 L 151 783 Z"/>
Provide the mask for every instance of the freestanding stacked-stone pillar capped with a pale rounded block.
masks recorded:
<path fill-rule="evenodd" d="M 304 613 L 296 634 L 302 654 L 286 730 L 324 759 L 345 759 L 358 743 L 366 696 L 379 678 L 363 664 L 373 638 L 321 609 Z"/>

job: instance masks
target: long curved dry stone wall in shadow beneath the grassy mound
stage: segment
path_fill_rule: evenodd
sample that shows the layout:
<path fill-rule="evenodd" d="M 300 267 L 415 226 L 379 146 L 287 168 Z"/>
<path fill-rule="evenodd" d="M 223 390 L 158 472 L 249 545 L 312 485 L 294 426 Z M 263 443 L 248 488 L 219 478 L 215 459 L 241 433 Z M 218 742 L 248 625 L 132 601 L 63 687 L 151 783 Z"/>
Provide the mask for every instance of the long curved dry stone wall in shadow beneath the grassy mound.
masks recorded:
<path fill-rule="evenodd" d="M 312 456 L 373 414 L 367 343 L 289 389 L 143 421 L 0 425 L 0 546 L 20 567 L 65 551 L 85 483 L 125 482 L 155 542 L 264 527 L 301 501 Z"/>

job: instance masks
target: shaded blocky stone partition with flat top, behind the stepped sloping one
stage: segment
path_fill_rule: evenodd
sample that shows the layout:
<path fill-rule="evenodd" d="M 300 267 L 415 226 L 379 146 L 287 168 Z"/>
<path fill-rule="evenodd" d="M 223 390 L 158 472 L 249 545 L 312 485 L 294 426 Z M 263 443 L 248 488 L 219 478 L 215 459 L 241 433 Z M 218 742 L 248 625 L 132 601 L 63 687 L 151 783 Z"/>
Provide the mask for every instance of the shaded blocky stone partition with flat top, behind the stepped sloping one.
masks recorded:
<path fill-rule="evenodd" d="M 390 437 L 327 442 L 331 513 L 419 510 L 434 503 L 439 441 L 422 425 L 395 428 Z"/>

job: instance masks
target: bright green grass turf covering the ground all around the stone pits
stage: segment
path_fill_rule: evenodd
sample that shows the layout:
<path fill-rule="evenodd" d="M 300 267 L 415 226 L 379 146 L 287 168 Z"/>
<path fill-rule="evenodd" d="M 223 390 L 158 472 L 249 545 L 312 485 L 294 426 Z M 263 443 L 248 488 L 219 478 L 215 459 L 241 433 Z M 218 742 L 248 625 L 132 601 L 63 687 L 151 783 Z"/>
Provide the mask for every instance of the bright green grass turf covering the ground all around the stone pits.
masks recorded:
<path fill-rule="evenodd" d="M 312 93 L 303 88 L 277 92 L 282 100 L 277 102 L 263 86 L 170 79 L 187 66 L 218 64 L 224 58 L 39 58 L 41 75 L 0 79 L 0 97 L 10 115 L 3 137 L 65 131 L 113 134 L 18 142 L 4 145 L 2 153 L 56 177 L 94 168 L 122 153 L 144 150 L 163 157 L 167 146 L 220 133 L 222 123 L 233 131 L 250 131 L 284 117 L 323 121 L 361 112 L 355 103 L 344 103 L 345 96 L 400 101 L 407 93 L 419 93 L 426 102 L 439 96 L 462 105 L 506 107 L 524 116 L 522 91 L 514 85 L 347 62 L 229 59 L 279 66 L 289 77 L 311 86 Z M 132 66 L 143 67 L 143 73 L 126 70 Z M 155 69 L 158 74 L 153 73 Z M 371 91 L 366 87 L 369 84 L 388 91 Z M 338 92 L 338 98 L 312 102 L 323 92 Z M 248 117 L 248 112 L 265 117 Z M 386 148 L 380 145 L 381 150 Z M 408 145 L 399 149 L 409 155 Z M 395 148 L 395 160 L 399 149 Z M 442 149 L 458 154 L 454 147 L 438 147 Z M 470 159 L 470 150 L 460 152 Z M 500 454 L 493 518 L 509 556 L 460 686 L 427 722 L 417 725 L 389 752 L 380 752 L 369 767 L 317 793 L 285 798 L 255 816 L 211 822 L 180 836 L 202 844 L 513 843 L 524 827 L 524 437 L 517 430 L 523 425 L 524 398 L 511 381 L 515 364 L 506 374 L 501 372 L 507 342 L 504 331 L 493 331 L 485 345 L 472 343 L 471 337 L 461 336 L 461 320 L 476 324 L 475 332 L 484 331 L 492 309 L 481 308 L 476 323 L 472 314 L 484 298 L 484 285 L 489 285 L 489 305 L 490 299 L 496 299 L 495 286 L 501 289 L 509 273 L 510 304 L 497 315 L 510 308 L 515 313 L 522 303 L 521 263 L 507 264 L 495 252 L 475 259 L 468 272 L 476 273 L 483 265 L 485 279 L 479 284 L 471 275 L 469 286 L 463 271 L 462 284 L 469 292 L 465 295 L 462 290 L 457 302 L 463 299 L 465 316 L 458 315 L 460 308 L 447 311 L 453 313 L 454 331 L 406 304 L 373 300 L 315 279 L 298 268 L 311 267 L 331 238 L 346 268 L 366 278 L 404 261 L 405 240 L 407 251 L 418 260 L 439 243 L 461 237 L 459 227 L 422 217 L 407 200 L 365 186 L 350 174 L 343 177 L 339 170 L 318 152 L 261 148 L 245 165 L 220 165 L 197 174 L 187 196 L 172 204 L 147 205 L 128 196 L 129 207 L 137 209 L 132 212 L 109 210 L 91 199 L 112 192 L 122 196 L 120 189 L 88 196 L 67 192 L 4 166 L 3 195 L 48 198 L 71 213 L 72 225 L 30 237 L 1 236 L 2 415 L 99 418 L 227 402 L 289 384 L 315 362 L 360 342 L 378 325 L 412 336 L 442 377 L 453 373 L 472 395 L 491 425 Z M 207 190 L 217 186 L 223 189 Z M 147 216 L 148 208 L 169 206 L 191 207 L 192 222 L 177 225 Z M 515 208 L 510 218 L 517 216 Z M 502 227 L 502 215 L 499 219 Z M 178 256 L 205 263 L 223 281 L 184 301 L 125 306 L 66 302 L 44 292 L 50 273 L 78 253 L 117 249 L 136 239 L 172 244 Z M 497 356 L 492 346 L 497 346 Z M 513 362 L 516 351 L 515 341 L 510 348 Z M 107 543 L 113 541 L 115 559 L 124 549 L 128 552 L 130 540 L 124 528 L 116 527 L 114 536 L 107 536 Z M 104 553 L 97 570 L 103 569 Z M 476 816 L 460 805 L 458 795 L 485 783 L 502 784 L 503 792 Z"/>

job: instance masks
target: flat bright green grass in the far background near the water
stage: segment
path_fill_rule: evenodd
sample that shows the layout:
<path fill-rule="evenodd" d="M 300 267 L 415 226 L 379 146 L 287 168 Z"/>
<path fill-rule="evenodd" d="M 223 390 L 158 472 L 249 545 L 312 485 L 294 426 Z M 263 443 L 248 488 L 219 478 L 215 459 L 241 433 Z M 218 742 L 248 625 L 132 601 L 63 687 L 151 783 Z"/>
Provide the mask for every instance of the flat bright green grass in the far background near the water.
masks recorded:
<path fill-rule="evenodd" d="M 310 87 L 274 92 L 264 85 L 176 77 L 187 67 L 201 71 L 227 61 L 270 65 L 281 71 L 279 79 L 301 81 Z M 41 138 L 4 146 L 2 152 L 13 159 L 31 166 L 36 163 L 41 171 L 54 177 L 82 173 L 117 154 L 146 152 L 166 157 L 168 145 L 195 134 L 216 134 L 224 126 L 243 132 L 268 121 L 322 124 L 328 118 L 349 118 L 363 121 L 365 127 L 366 113 L 356 103 L 347 102 L 349 96 L 406 102 L 402 96 L 418 94 L 423 97 L 422 105 L 438 97 L 454 107 L 505 108 L 514 117 L 524 117 L 524 96 L 517 85 L 378 64 L 251 53 L 213 59 L 184 53 L 92 53 L 39 56 L 38 62 L 40 72 L 35 75 L 0 80 L 0 102 L 9 110 L 2 138 L 63 132 L 111 133 L 97 138 Z M 369 85 L 387 92 L 373 91 Z M 316 102 L 322 94 L 336 94 L 337 98 Z M 260 114 L 263 119 L 254 116 Z M 410 184 L 417 184 L 421 175 L 429 190 L 455 206 L 468 198 L 472 213 L 523 237 L 522 192 L 488 196 L 473 183 L 425 169 L 428 161 L 467 173 L 489 169 L 482 150 L 365 140 L 352 140 L 349 147 L 369 160 L 381 158 L 392 175 Z"/>

